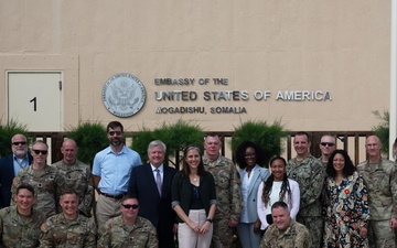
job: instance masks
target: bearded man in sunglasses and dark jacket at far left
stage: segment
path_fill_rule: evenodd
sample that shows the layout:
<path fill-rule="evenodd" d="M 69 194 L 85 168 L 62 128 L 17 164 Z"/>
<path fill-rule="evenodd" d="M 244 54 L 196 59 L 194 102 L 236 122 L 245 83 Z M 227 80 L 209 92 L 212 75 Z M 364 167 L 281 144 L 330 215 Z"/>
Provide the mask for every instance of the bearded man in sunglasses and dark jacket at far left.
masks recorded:
<path fill-rule="evenodd" d="M 10 206 L 12 180 L 33 160 L 28 154 L 26 137 L 23 134 L 18 133 L 11 138 L 11 149 L 12 154 L 0 159 L 0 208 Z"/>

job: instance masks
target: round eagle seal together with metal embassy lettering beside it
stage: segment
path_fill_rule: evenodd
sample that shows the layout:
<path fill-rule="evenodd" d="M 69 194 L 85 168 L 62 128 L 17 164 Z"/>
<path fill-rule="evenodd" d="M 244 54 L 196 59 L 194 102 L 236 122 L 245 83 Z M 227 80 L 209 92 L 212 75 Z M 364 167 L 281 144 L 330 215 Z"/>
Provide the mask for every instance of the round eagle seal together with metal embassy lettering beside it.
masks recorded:
<path fill-rule="evenodd" d="M 154 78 L 154 114 L 247 114 L 247 107 L 239 103 L 255 101 L 332 101 L 329 90 L 236 90 L 216 88 L 228 87 L 228 78 Z M 169 86 L 180 89 L 163 90 Z M 211 87 L 197 93 L 189 87 Z M 173 87 L 174 88 L 174 87 Z M 130 117 L 139 112 L 146 101 L 146 89 L 142 82 L 128 73 L 111 76 L 104 85 L 103 101 L 109 112 L 117 117 Z M 211 103 L 203 105 L 203 103 Z"/>

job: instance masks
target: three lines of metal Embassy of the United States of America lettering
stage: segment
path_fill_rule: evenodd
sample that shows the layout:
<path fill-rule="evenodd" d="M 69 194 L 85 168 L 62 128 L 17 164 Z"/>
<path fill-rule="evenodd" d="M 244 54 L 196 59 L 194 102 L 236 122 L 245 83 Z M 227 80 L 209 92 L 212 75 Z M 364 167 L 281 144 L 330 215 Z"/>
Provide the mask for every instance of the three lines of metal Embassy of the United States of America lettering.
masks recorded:
<path fill-rule="evenodd" d="M 329 90 L 189 90 L 186 87 L 203 86 L 213 88 L 228 86 L 228 78 L 154 78 L 154 86 L 180 86 L 178 90 L 155 90 L 154 100 L 162 103 L 154 107 L 155 114 L 247 114 L 246 107 L 235 107 L 249 101 L 332 101 Z M 197 101 L 212 103 L 208 107 L 197 106 Z M 233 103 L 233 106 L 232 106 Z"/>

